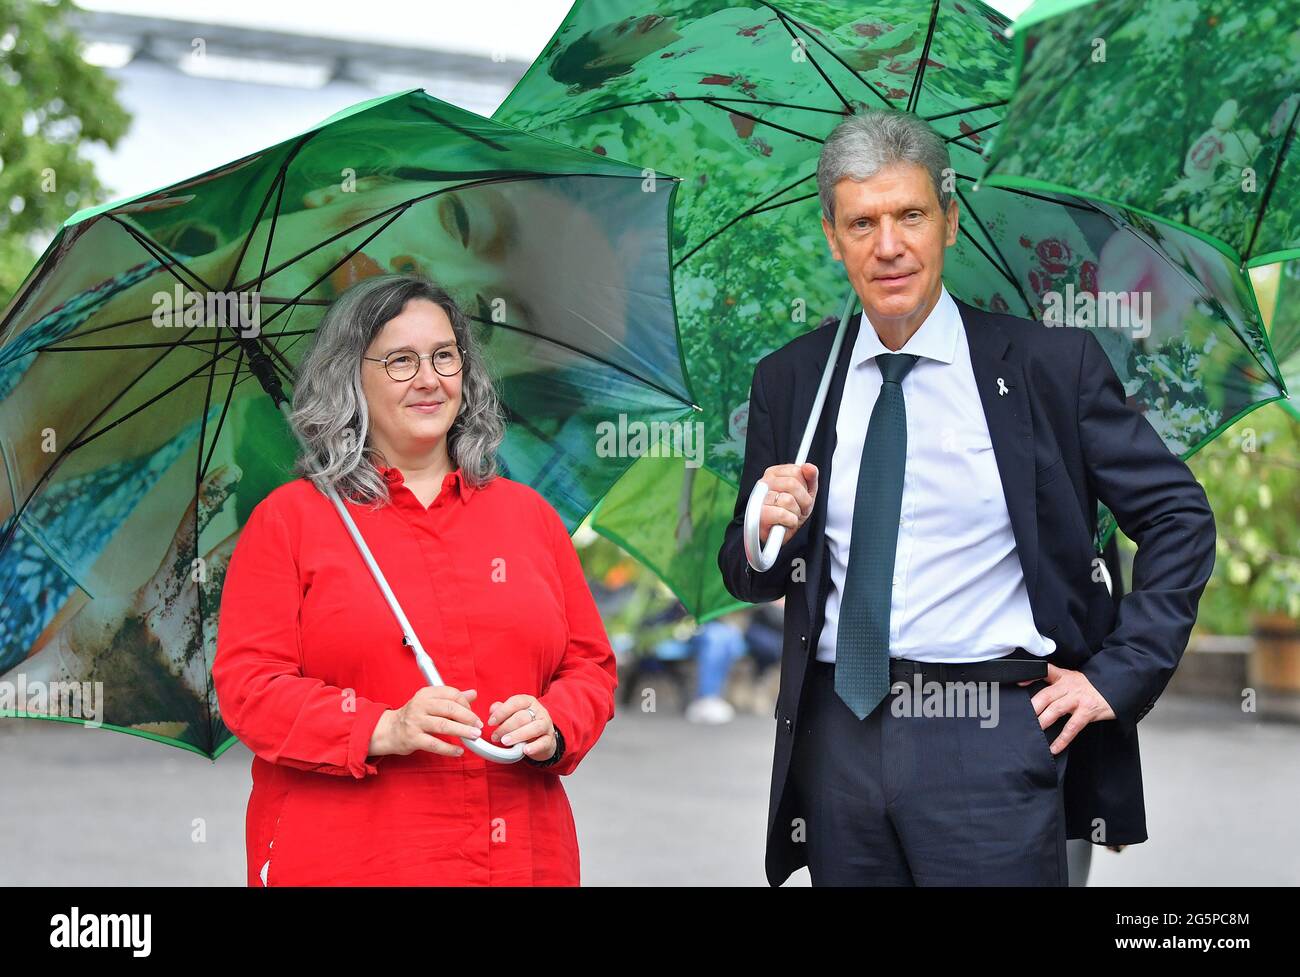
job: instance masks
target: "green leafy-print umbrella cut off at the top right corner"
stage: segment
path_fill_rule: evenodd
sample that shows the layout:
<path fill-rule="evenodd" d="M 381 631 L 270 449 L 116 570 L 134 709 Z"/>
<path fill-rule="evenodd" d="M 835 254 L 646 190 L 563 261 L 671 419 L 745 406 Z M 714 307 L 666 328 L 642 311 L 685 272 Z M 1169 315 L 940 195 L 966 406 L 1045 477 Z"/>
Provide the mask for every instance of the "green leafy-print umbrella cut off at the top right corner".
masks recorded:
<path fill-rule="evenodd" d="M 1295 0 L 1039 0 L 1014 31 L 987 183 L 1121 203 L 1238 265 L 1300 257 Z"/>

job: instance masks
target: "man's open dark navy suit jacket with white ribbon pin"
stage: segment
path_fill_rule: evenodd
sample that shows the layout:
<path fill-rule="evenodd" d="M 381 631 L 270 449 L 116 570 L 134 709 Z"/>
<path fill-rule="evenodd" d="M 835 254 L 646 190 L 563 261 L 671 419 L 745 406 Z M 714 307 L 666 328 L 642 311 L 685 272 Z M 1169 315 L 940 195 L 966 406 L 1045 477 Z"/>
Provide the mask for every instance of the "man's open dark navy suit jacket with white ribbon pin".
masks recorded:
<path fill-rule="evenodd" d="M 1147 839 L 1138 721 L 1165 689 L 1187 646 L 1196 605 L 1214 568 L 1214 517 L 1205 491 L 1154 429 L 1124 401 L 1123 387 L 1087 329 L 1045 326 L 961 300 L 997 470 L 1039 631 L 1056 642 L 1048 660 L 1082 670 L 1115 712 L 1070 744 L 1067 837 L 1102 844 Z M 794 460 L 837 321 L 764 356 L 750 388 L 745 465 L 734 517 L 718 553 L 740 600 L 785 596 L 776 750 L 767 824 L 767 878 L 780 885 L 807 864 L 792 838 L 798 817 L 786 790 L 807 663 L 822 633 L 831 568 L 826 495 L 836 417 L 861 316 L 849 322 L 809 461 L 818 466 L 814 514 L 757 573 L 745 560 L 742 524 L 763 472 Z M 1008 388 L 1000 394 L 998 381 Z M 915 417 L 937 431 L 942 418 Z M 956 487 L 954 487 L 956 488 Z M 1113 602 L 1095 570 L 1097 500 L 1138 544 L 1132 590 Z"/>

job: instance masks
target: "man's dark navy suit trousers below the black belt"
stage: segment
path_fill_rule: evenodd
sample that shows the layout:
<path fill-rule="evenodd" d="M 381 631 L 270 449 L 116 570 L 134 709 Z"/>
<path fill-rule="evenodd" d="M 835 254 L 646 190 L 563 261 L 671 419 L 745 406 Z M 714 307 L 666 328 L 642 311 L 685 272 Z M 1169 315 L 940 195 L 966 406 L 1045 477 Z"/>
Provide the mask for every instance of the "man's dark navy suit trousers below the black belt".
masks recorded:
<path fill-rule="evenodd" d="M 1030 699 L 1043 682 L 996 685 L 996 700 L 993 687 L 984 717 L 972 702 L 950 711 L 966 715 L 913 715 L 907 682 L 858 720 L 835 691 L 835 665 L 809 663 L 790 830 L 801 841 L 803 829 L 814 885 L 1067 883 L 1070 750 L 1053 756 L 1049 744 L 1069 716 L 1039 726 Z"/>

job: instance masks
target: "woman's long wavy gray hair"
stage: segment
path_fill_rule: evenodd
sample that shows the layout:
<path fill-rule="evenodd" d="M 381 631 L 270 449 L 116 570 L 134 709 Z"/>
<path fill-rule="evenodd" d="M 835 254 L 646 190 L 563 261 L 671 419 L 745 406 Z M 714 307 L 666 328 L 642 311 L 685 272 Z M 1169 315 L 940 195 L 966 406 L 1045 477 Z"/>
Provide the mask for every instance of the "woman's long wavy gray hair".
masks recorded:
<path fill-rule="evenodd" d="M 290 424 L 304 446 L 294 470 L 322 479 L 339 496 L 378 508 L 391 501 L 369 444 L 370 418 L 361 388 L 361 357 L 380 330 L 411 299 L 428 299 L 447 313 L 463 351 L 460 413 L 447 431 L 447 453 L 465 481 L 480 487 L 497 476 L 497 450 L 506 437 L 497 390 L 478 357 L 469 318 L 439 286 L 413 274 L 364 278 L 330 305 L 298 368 Z M 386 460 L 384 460 L 386 464 Z"/>

